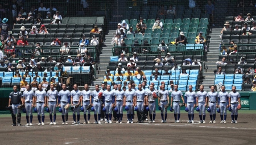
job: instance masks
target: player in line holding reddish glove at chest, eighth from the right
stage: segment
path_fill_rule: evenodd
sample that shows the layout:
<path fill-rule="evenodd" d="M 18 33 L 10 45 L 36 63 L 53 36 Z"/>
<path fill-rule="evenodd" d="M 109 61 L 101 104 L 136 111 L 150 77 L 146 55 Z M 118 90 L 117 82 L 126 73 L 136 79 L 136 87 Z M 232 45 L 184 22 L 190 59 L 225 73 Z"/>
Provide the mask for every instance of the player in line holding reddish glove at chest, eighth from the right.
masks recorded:
<path fill-rule="evenodd" d="M 155 90 L 154 85 L 150 85 L 150 90 L 147 90 L 146 92 L 147 94 L 147 104 L 149 107 L 149 113 L 150 113 L 150 123 L 155 123 L 155 99 L 156 97 L 158 97 L 158 91 Z M 154 96 L 153 96 L 154 94 Z M 152 118 L 152 114 L 153 114 L 153 118 Z"/>

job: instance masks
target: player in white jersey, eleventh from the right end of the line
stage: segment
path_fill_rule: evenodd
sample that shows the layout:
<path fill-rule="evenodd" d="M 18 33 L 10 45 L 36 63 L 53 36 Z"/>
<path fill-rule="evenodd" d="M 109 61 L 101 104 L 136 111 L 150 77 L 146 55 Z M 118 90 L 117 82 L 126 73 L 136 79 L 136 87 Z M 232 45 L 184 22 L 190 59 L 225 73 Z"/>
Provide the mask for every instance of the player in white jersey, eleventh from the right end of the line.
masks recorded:
<path fill-rule="evenodd" d="M 122 85 L 117 85 L 117 90 L 115 90 L 115 107 L 117 107 L 117 123 L 123 123 L 123 97 L 125 96 L 125 92 L 121 89 Z"/>

